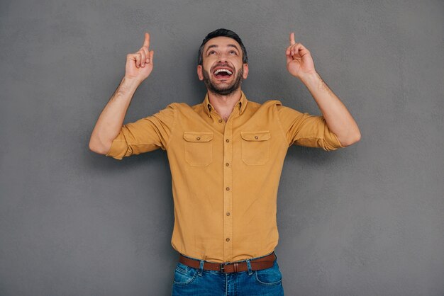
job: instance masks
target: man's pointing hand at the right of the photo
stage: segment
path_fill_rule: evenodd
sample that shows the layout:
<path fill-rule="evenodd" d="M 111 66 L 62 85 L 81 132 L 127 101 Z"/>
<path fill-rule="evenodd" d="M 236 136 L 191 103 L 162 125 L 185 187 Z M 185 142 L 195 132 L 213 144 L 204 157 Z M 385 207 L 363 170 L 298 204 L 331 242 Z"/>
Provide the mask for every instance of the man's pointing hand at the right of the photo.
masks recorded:
<path fill-rule="evenodd" d="M 301 78 L 301 76 L 316 73 L 309 50 L 301 43 L 294 42 L 294 33 L 290 33 L 290 46 L 287 47 L 285 55 L 287 56 L 287 70 L 293 76 Z"/>

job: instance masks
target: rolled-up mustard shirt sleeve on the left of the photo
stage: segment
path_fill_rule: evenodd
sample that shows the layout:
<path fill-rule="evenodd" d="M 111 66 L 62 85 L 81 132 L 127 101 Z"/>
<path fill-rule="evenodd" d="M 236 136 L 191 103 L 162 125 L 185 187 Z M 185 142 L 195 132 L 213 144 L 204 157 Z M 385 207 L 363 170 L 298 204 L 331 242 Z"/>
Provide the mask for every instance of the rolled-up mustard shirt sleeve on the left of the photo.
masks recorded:
<path fill-rule="evenodd" d="M 159 148 L 166 150 L 176 121 L 175 113 L 172 103 L 154 115 L 123 125 L 106 156 L 121 160 Z"/>

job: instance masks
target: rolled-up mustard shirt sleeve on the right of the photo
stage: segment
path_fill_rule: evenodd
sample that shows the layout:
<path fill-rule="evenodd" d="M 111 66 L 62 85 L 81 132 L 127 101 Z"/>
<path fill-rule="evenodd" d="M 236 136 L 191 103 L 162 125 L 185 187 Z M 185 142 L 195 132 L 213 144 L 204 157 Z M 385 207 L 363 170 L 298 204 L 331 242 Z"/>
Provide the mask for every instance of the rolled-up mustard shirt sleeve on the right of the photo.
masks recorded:
<path fill-rule="evenodd" d="M 322 148 L 326 151 L 344 147 L 328 128 L 323 116 L 301 113 L 282 105 L 277 105 L 277 111 L 289 146 L 296 144 Z"/>

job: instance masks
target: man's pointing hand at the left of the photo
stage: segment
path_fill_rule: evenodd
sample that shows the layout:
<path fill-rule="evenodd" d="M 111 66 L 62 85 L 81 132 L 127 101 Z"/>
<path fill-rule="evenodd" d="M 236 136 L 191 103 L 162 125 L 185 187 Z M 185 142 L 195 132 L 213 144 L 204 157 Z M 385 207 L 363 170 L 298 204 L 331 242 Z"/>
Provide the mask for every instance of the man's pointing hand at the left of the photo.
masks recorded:
<path fill-rule="evenodd" d="M 150 51 L 150 34 L 145 33 L 145 41 L 140 50 L 126 55 L 125 78 L 135 79 L 141 83 L 150 76 L 153 55 L 154 50 Z"/>

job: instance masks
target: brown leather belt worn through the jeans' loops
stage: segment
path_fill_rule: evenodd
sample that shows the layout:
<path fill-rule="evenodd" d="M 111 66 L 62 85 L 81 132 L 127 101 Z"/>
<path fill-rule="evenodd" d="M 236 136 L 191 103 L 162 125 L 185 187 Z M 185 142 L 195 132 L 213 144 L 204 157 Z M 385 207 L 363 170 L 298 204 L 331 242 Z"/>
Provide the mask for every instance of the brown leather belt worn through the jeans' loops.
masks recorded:
<path fill-rule="evenodd" d="M 276 260 L 276 255 L 273 251 L 272 254 L 265 257 L 250 260 L 251 269 L 252 271 L 260 271 L 261 269 L 270 268 L 273 266 L 274 260 Z M 179 262 L 192 268 L 200 268 L 199 260 L 185 257 L 182 254 L 180 254 Z M 205 261 L 204 270 L 221 271 L 221 273 L 238 273 L 239 271 L 248 271 L 248 266 L 246 261 L 224 263 Z"/>

